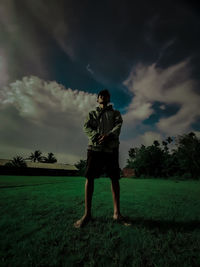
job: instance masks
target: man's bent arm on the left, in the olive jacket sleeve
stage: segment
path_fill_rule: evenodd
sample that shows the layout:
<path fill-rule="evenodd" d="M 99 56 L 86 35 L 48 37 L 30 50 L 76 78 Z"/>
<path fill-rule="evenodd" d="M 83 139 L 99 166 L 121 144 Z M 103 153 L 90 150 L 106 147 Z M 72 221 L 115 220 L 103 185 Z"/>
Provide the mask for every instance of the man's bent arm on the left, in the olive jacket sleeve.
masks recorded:
<path fill-rule="evenodd" d="M 92 142 L 96 142 L 100 134 L 97 132 L 97 126 L 94 125 L 94 118 L 90 112 L 85 119 L 83 130 Z"/>

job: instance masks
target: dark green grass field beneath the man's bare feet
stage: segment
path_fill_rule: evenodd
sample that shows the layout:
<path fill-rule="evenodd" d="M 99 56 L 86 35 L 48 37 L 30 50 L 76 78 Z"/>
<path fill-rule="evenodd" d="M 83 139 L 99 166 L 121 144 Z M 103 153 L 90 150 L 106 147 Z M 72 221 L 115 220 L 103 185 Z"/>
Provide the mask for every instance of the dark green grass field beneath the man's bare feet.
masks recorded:
<path fill-rule="evenodd" d="M 0 266 L 200 266 L 200 181 L 121 179 L 112 221 L 107 178 L 95 181 L 82 229 L 82 177 L 0 176 Z"/>

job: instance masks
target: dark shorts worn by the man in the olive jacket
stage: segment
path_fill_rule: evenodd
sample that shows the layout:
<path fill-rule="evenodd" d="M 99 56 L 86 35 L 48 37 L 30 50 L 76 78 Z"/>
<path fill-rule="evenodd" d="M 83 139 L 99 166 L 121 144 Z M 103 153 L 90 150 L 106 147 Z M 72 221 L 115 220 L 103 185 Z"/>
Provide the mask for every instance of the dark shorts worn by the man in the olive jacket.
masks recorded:
<path fill-rule="evenodd" d="M 94 179 L 102 174 L 106 174 L 110 179 L 120 179 L 118 149 L 112 153 L 88 149 L 85 177 Z"/>

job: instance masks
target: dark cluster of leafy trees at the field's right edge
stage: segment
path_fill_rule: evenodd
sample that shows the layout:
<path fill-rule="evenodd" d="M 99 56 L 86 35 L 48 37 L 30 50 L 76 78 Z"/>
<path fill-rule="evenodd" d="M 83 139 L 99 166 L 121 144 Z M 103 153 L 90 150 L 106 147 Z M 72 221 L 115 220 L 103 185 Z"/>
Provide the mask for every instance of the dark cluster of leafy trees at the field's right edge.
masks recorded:
<path fill-rule="evenodd" d="M 175 142 L 170 152 L 168 145 Z M 153 145 L 130 148 L 128 168 L 133 168 L 138 177 L 181 176 L 185 179 L 200 178 L 200 139 L 191 132 L 179 135 L 175 140 L 168 137 L 162 145 L 155 140 Z"/>

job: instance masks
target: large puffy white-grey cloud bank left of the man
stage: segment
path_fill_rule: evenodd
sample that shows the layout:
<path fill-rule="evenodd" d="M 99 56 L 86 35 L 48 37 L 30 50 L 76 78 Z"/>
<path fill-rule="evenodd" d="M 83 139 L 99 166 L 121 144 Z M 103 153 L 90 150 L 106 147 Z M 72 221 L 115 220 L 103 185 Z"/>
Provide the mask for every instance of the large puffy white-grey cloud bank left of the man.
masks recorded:
<path fill-rule="evenodd" d="M 34 76 L 4 87 L 0 91 L 1 157 L 22 151 L 28 156 L 28 151 L 40 149 L 53 152 L 60 162 L 85 158 L 87 137 L 82 127 L 95 106 L 95 94 Z"/>

